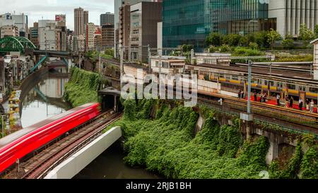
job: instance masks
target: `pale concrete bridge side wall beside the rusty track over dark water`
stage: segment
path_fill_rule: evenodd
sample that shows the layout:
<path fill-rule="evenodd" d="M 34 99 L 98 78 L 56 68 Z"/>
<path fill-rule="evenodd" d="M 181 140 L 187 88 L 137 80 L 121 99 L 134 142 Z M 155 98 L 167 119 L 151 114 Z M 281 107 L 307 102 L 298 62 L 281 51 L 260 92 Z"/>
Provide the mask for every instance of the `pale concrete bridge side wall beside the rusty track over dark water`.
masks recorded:
<path fill-rule="evenodd" d="M 71 179 L 114 144 L 121 136 L 122 129 L 120 129 L 120 127 L 110 129 L 98 137 L 98 139 L 88 144 L 88 146 L 82 148 L 81 151 L 78 151 L 58 165 L 57 168 L 50 171 L 45 179 Z"/>

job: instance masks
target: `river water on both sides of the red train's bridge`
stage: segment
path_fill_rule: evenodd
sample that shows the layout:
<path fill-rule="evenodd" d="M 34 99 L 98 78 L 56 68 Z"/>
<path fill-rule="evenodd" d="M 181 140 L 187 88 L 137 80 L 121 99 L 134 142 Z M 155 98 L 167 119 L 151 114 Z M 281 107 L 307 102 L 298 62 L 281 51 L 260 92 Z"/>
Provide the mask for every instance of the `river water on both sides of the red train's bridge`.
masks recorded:
<path fill-rule="evenodd" d="M 57 76 L 65 69 L 45 74 L 42 80 L 35 83 L 30 90 L 22 90 L 21 124 L 28 127 L 49 117 L 59 115 L 71 107 L 63 100 L 64 85 L 68 78 Z M 27 93 L 25 93 L 27 92 Z M 113 144 L 93 160 L 90 165 L 84 168 L 74 178 L 85 179 L 154 179 L 158 176 L 143 170 L 142 168 L 131 168 L 124 164 L 124 152 L 120 141 Z"/>

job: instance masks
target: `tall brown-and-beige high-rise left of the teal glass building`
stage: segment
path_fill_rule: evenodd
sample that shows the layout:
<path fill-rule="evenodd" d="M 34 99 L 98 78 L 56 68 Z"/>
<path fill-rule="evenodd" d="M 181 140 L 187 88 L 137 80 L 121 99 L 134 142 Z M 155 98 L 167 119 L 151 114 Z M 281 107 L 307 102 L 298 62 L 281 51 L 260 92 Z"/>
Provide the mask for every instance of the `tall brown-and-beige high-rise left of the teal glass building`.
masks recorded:
<path fill-rule="evenodd" d="M 162 3 L 140 2 L 130 6 L 129 59 L 147 62 L 148 45 L 157 47 Z"/>

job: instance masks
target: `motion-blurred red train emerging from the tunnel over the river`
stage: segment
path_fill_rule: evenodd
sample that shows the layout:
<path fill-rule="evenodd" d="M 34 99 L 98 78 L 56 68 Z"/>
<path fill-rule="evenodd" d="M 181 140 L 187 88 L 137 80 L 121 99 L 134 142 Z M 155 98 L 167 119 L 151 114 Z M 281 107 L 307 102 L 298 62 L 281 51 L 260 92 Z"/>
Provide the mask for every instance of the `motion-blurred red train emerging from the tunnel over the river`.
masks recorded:
<path fill-rule="evenodd" d="M 0 173 L 16 163 L 17 159 L 98 115 L 100 104 L 88 103 L 5 136 L 0 139 Z"/>

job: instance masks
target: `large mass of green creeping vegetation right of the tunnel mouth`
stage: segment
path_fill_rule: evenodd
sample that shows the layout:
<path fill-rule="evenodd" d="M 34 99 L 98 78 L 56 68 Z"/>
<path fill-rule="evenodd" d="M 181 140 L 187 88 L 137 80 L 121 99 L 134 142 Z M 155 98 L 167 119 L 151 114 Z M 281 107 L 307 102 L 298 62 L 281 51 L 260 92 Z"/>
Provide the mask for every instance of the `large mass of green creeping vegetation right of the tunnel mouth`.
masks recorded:
<path fill-rule="evenodd" d="M 125 162 L 141 165 L 169 178 L 259 178 L 266 170 L 266 138 L 243 141 L 239 123 L 222 126 L 214 111 L 202 107 L 206 118 L 194 134 L 198 113 L 189 107 L 172 109 L 159 100 L 126 100 L 122 127 Z M 158 107 L 150 119 L 153 107 Z"/>

